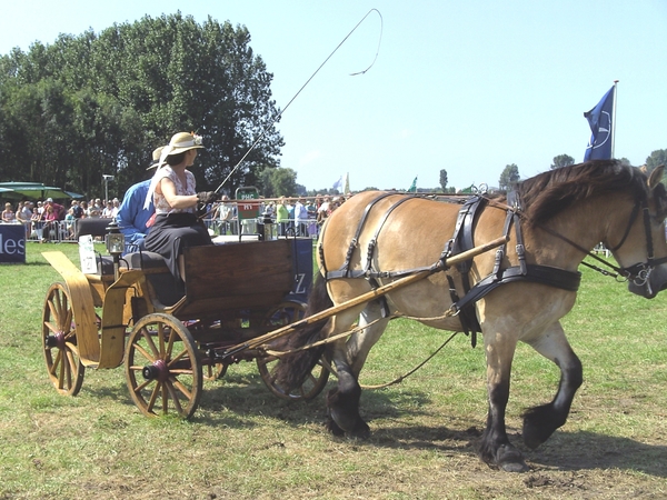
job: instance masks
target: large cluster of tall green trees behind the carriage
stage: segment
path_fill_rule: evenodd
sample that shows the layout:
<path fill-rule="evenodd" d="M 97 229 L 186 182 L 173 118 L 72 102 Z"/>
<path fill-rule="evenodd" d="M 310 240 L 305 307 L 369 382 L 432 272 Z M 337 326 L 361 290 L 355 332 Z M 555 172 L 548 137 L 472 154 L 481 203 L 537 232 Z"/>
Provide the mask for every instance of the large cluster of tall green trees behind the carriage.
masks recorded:
<path fill-rule="evenodd" d="M 206 152 L 192 170 L 210 190 L 261 137 L 225 184 L 233 193 L 280 164 L 271 81 L 246 27 L 180 12 L 13 49 L 0 57 L 0 180 L 90 198 L 111 174 L 122 194 L 150 176 L 155 148 L 193 131 Z"/>

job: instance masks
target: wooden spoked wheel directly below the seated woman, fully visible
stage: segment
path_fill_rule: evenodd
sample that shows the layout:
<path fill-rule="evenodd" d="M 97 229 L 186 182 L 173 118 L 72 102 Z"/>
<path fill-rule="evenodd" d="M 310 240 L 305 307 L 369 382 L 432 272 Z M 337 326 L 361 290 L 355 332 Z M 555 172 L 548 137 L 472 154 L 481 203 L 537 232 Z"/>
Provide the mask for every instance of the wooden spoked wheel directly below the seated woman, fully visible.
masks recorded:
<path fill-rule="evenodd" d="M 130 397 L 147 417 L 192 417 L 202 388 L 201 362 L 192 336 L 169 314 L 141 318 L 126 347 Z"/>

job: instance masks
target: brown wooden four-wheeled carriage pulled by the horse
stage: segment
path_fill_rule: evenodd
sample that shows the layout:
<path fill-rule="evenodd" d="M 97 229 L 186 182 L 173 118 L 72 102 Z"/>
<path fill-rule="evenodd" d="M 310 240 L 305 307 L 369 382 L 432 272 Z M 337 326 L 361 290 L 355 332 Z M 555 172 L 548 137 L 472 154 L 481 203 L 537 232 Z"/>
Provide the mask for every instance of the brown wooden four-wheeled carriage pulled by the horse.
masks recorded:
<path fill-rule="evenodd" d="M 41 336 L 49 378 L 62 394 L 79 392 L 87 368 L 125 364 L 130 397 L 145 414 L 189 418 L 203 379 L 222 377 L 242 360 L 255 360 L 280 398 L 315 398 L 327 383 L 320 364 L 288 392 L 271 377 L 279 359 L 256 348 L 227 353 L 302 318 L 312 277 L 309 239 L 188 248 L 181 291 L 156 253 L 126 256 L 118 272 L 100 257 L 94 274 L 62 252 L 42 254 L 63 278 L 47 292 Z"/>

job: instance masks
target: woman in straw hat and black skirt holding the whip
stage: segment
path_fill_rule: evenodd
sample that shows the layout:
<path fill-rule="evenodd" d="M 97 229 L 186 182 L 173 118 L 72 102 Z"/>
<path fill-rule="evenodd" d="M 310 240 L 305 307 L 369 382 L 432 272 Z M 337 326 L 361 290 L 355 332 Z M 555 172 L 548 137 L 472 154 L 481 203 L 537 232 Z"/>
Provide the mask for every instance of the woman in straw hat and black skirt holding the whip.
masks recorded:
<path fill-rule="evenodd" d="M 201 137 L 179 132 L 162 150 L 159 167 L 151 179 L 145 207 L 152 200 L 156 218 L 146 250 L 165 257 L 171 273 L 185 281 L 182 252 L 187 247 L 212 244 L 206 227 L 197 220 L 197 204 L 219 200 L 213 191 L 196 192 L 195 176 L 188 170 L 195 163 Z"/>

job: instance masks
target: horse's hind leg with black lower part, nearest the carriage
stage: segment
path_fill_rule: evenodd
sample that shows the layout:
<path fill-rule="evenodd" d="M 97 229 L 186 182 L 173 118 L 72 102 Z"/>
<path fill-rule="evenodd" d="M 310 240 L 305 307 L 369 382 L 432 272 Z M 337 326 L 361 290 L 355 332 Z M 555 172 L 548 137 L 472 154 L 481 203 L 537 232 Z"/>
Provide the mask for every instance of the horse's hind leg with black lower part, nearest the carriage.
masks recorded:
<path fill-rule="evenodd" d="M 369 303 L 359 317 L 359 327 L 380 318 L 380 307 Z M 370 428 L 359 414 L 361 387 L 358 378 L 370 348 L 380 338 L 389 320 L 381 319 L 375 324 L 352 334 L 347 342 L 335 344 L 332 363 L 338 374 L 338 387 L 327 394 L 327 407 L 331 417 L 329 430 L 337 436 L 344 433 L 365 439 Z"/>

